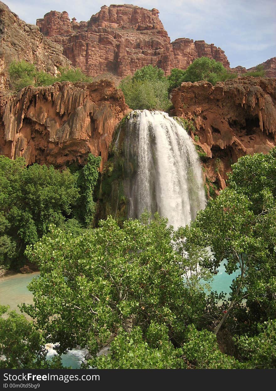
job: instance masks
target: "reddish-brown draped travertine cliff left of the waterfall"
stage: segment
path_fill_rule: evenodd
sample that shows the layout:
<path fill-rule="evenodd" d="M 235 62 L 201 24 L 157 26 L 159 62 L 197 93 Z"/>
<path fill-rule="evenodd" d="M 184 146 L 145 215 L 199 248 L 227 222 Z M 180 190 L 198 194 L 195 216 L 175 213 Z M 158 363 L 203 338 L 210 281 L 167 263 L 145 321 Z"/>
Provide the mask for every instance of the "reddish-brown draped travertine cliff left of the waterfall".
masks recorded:
<path fill-rule="evenodd" d="M 102 156 L 102 169 L 128 110 L 122 91 L 108 80 L 24 88 L 0 97 L 0 155 L 64 168 L 83 165 L 92 152 Z"/>

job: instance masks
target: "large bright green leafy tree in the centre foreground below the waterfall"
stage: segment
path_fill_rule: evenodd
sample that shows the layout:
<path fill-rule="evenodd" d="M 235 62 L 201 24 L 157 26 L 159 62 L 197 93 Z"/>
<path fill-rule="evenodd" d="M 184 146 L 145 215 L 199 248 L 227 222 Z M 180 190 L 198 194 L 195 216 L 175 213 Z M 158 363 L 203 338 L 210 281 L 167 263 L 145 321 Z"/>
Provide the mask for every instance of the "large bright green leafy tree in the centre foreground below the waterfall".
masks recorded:
<path fill-rule="evenodd" d="M 156 214 L 147 223 L 149 217 L 123 228 L 108 217 L 76 238 L 52 228 L 27 249 L 41 276 L 29 286 L 34 305 L 23 308 L 61 351 L 87 345 L 97 352 L 134 326 L 145 337 L 152 321 L 165 324 L 177 345 L 186 324 L 196 323 L 205 294 L 183 284 L 167 220 Z"/>

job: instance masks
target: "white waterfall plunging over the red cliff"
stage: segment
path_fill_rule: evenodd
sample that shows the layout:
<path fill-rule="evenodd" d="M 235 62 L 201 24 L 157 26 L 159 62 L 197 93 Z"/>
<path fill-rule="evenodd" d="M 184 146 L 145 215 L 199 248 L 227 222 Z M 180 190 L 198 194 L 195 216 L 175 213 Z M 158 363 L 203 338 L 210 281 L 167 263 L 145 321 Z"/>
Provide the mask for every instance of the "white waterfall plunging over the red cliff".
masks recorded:
<path fill-rule="evenodd" d="M 202 168 L 191 137 L 161 111 L 135 110 L 127 120 L 124 154 L 129 217 L 159 212 L 174 228 L 205 208 Z"/>

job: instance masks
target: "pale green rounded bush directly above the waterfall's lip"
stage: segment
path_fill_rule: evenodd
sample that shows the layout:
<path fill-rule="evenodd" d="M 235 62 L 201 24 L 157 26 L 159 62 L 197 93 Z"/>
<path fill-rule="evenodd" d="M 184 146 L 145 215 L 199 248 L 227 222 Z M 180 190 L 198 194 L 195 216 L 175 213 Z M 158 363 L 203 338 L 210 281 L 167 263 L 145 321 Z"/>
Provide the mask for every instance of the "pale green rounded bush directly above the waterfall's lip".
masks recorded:
<path fill-rule="evenodd" d="M 132 109 L 165 110 L 170 105 L 168 86 L 163 70 L 146 65 L 123 79 L 119 87 Z"/>

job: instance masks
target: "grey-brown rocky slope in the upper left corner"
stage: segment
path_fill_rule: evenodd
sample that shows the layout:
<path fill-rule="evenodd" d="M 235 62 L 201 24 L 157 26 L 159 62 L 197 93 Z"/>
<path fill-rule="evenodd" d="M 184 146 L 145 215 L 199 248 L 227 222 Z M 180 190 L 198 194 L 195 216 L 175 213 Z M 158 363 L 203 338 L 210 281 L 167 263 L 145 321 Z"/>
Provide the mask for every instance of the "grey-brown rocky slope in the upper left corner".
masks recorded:
<path fill-rule="evenodd" d="M 52 75 L 58 66 L 69 66 L 62 47 L 44 37 L 37 26 L 27 24 L 0 2 L 0 89 L 8 88 L 7 67 L 12 60 L 35 63 Z"/>

